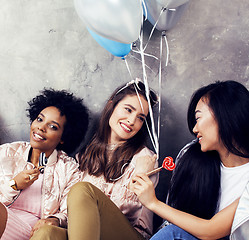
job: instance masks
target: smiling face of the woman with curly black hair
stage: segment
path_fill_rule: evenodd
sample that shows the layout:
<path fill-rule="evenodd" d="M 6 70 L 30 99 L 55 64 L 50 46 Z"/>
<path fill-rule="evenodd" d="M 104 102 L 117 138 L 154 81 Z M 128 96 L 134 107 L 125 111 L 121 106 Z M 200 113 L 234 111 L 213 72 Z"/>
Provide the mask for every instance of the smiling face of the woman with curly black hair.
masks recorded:
<path fill-rule="evenodd" d="M 46 157 L 62 142 L 66 117 L 56 107 L 43 109 L 30 126 L 30 144 L 33 150 L 45 152 Z"/>

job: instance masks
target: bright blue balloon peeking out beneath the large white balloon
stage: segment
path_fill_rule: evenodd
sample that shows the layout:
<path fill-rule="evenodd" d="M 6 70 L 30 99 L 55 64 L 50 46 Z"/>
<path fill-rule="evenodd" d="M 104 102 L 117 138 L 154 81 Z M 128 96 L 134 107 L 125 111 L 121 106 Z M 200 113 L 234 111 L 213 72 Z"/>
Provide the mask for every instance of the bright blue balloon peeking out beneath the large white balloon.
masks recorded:
<path fill-rule="evenodd" d="M 114 56 L 124 57 L 131 51 L 132 44 L 116 42 L 98 35 L 89 28 L 87 30 L 101 47 L 108 50 Z"/>

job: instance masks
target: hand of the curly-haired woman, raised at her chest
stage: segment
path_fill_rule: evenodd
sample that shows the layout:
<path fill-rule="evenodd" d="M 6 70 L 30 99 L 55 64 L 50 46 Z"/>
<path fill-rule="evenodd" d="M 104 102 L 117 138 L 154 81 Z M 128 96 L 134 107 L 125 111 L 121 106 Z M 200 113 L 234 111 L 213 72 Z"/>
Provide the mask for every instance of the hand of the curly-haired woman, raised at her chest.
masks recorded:
<path fill-rule="evenodd" d="M 35 180 L 38 179 L 40 171 L 38 168 L 24 170 L 18 173 L 13 179 L 16 182 L 18 190 L 25 189 L 29 187 Z"/>

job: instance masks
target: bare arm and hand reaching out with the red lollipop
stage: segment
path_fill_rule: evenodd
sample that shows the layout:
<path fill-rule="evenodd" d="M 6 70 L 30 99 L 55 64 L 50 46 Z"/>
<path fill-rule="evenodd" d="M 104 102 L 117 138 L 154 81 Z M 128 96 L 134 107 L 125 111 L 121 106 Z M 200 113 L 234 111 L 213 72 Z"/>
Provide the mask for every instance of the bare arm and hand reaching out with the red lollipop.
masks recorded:
<path fill-rule="evenodd" d="M 160 217 L 200 239 L 219 239 L 229 235 L 239 200 L 234 201 L 210 220 L 205 220 L 159 201 L 152 182 L 145 174 L 139 174 L 133 180 L 131 190 L 135 192 L 143 205 Z"/>

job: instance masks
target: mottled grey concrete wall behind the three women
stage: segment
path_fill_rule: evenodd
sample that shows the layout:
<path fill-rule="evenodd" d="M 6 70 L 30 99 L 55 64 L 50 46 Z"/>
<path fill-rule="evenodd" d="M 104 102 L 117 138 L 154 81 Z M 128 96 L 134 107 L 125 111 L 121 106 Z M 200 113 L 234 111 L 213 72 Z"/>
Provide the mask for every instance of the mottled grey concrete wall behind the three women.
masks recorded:
<path fill-rule="evenodd" d="M 111 92 L 130 81 L 125 62 L 93 40 L 73 0 L 0 0 L 0 5 L 1 143 L 28 140 L 26 102 L 44 87 L 71 90 L 95 116 Z M 146 38 L 152 25 L 144 26 Z M 147 49 L 157 57 L 160 38 L 156 30 Z M 249 87 L 249 1 L 190 0 L 167 38 L 170 61 L 162 70 L 160 161 L 175 157 L 192 139 L 186 111 L 195 89 L 227 79 Z M 132 75 L 142 78 L 137 57 L 130 52 L 126 59 Z M 158 90 L 158 61 L 146 58 L 146 64 L 149 85 Z M 161 172 L 161 199 L 168 178 L 169 173 Z"/>

